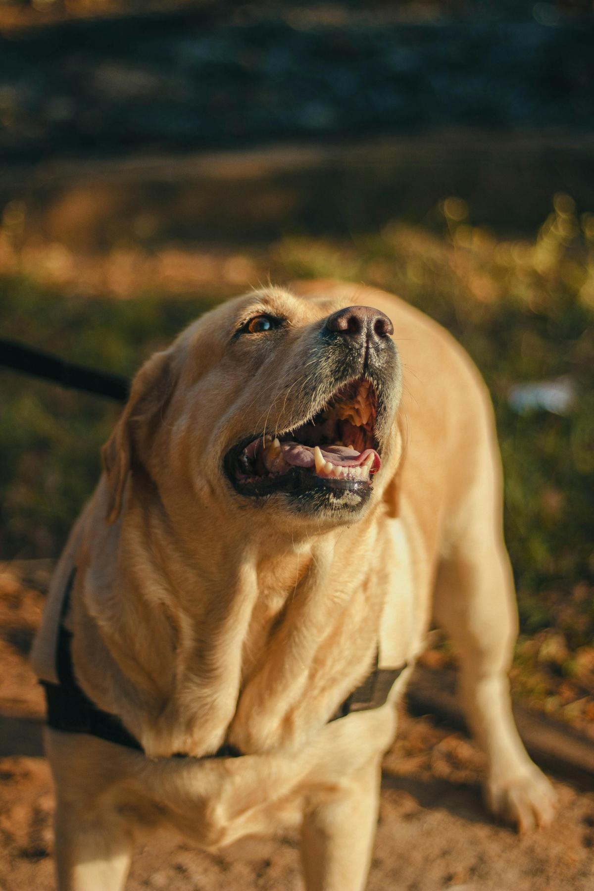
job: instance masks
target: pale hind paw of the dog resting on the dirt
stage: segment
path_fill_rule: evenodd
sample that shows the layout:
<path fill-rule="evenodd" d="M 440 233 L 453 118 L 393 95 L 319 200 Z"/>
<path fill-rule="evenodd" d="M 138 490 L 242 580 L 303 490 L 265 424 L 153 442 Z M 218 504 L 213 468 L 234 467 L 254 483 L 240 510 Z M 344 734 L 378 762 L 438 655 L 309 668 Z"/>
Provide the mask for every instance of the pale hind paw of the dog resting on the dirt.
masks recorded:
<path fill-rule="evenodd" d="M 490 777 L 484 792 L 492 813 L 515 823 L 521 835 L 548 826 L 555 815 L 557 793 L 535 764 L 510 777 Z"/>

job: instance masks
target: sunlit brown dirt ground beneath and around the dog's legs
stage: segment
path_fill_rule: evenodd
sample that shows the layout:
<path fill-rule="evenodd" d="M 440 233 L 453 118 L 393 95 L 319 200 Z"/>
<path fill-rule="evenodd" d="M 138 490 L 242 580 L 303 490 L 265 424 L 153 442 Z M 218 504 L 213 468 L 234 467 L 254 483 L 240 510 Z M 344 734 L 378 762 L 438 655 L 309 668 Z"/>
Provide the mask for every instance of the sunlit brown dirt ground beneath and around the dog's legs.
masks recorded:
<path fill-rule="evenodd" d="M 43 596 L 0 575 L 0 891 L 49 891 L 53 792 L 41 747 L 43 700 L 27 653 Z M 484 768 L 460 733 L 403 715 L 387 753 L 369 891 L 587 891 L 594 888 L 594 793 L 556 782 L 557 821 L 525 838 L 481 802 Z M 175 838 L 138 850 L 128 891 L 297 891 L 297 838 L 220 856 Z"/>

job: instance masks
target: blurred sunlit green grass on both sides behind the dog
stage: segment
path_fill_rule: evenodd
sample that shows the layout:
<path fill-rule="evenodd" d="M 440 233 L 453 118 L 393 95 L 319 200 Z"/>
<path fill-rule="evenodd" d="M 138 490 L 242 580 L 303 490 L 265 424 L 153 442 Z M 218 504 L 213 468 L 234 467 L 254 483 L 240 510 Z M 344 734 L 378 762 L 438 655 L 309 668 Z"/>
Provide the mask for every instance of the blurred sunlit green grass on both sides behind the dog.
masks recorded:
<path fill-rule="evenodd" d="M 244 253 L 249 251 L 244 251 Z M 247 285 L 328 277 L 394 291 L 445 325 L 491 390 L 505 467 L 506 537 L 517 576 L 522 630 L 552 627 L 569 650 L 594 631 L 594 216 L 557 195 L 531 240 L 501 240 L 444 200 L 431 228 L 395 222 L 348 243 L 284 238 L 252 253 Z M 70 265 L 72 266 L 72 264 Z M 214 267 L 213 267 L 214 268 Z M 26 264 L 0 270 L 4 337 L 98 368 L 132 374 L 222 293 L 204 279 L 176 293 L 146 275 L 133 298 L 81 297 L 42 283 Z M 77 265 L 73 265 L 73 281 Z M 129 274 L 128 274 L 129 275 Z M 134 289 L 133 289 L 134 290 Z M 180 293 L 180 291 L 182 291 Z M 565 417 L 513 413 L 515 383 L 569 376 Z M 0 556 L 59 552 L 100 472 L 99 448 L 119 407 L 0 372 Z"/>

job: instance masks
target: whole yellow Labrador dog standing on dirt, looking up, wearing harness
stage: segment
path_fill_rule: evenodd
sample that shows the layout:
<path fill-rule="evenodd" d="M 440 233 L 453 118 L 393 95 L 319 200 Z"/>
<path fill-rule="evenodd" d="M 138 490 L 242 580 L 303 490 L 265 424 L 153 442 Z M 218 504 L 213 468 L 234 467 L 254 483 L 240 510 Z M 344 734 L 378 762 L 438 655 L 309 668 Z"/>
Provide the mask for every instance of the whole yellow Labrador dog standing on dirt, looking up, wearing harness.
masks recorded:
<path fill-rule="evenodd" d="M 296 824 L 309 891 L 364 887 L 432 614 L 493 812 L 549 821 L 509 704 L 492 409 L 442 328 L 338 282 L 230 300 L 142 366 L 103 462 L 34 650 L 61 891 L 123 887 L 159 826 L 212 850 Z"/>

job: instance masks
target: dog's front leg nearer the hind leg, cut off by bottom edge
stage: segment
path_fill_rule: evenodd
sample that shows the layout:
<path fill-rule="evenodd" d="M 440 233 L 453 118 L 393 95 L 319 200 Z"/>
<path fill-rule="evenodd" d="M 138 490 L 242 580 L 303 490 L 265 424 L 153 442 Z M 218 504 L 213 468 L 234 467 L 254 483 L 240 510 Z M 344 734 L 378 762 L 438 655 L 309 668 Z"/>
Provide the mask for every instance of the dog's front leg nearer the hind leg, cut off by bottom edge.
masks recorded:
<path fill-rule="evenodd" d="M 362 891 L 378 822 L 380 761 L 338 788 L 312 797 L 305 810 L 302 859 L 307 891 Z"/>

